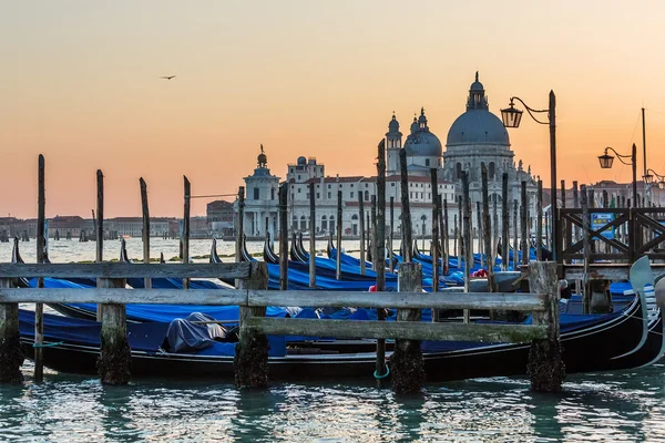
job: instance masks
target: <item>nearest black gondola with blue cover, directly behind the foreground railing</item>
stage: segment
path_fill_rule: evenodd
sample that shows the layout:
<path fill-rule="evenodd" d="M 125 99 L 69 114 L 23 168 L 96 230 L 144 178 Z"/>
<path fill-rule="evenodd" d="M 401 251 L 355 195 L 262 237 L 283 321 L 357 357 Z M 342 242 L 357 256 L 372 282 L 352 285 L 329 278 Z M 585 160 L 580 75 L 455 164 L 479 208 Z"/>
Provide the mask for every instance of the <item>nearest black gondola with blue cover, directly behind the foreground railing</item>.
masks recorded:
<path fill-rule="evenodd" d="M 563 317 L 566 372 L 608 370 L 613 358 L 634 353 L 644 334 L 643 303 L 644 296 L 640 296 L 621 312 Z M 33 321 L 32 312 L 21 310 L 21 342 L 27 353 L 33 342 Z M 167 329 L 168 323 L 162 322 L 127 324 L 133 375 L 233 377 L 234 343 L 213 343 L 196 353 L 171 353 L 162 347 Z M 101 324 L 94 321 L 44 315 L 44 364 L 57 371 L 94 373 L 100 332 Z M 329 352 L 325 347 L 291 350 L 286 349 L 284 338 L 270 338 L 270 346 L 272 379 L 370 378 L 375 370 L 371 352 Z M 525 374 L 530 343 L 423 342 L 422 349 L 427 380 L 444 381 Z"/>

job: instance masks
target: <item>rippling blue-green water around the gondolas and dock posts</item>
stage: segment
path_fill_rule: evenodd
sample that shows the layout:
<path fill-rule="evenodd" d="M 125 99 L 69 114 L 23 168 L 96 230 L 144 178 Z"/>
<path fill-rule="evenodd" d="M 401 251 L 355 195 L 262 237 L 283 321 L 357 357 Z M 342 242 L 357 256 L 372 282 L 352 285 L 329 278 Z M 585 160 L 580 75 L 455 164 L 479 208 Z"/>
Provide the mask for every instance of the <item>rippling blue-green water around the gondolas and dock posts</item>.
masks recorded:
<path fill-rule="evenodd" d="M 177 255 L 176 240 L 154 239 L 152 254 Z M 0 244 L 0 261 L 9 261 Z M 209 253 L 193 240 L 192 255 Z M 318 244 L 317 244 L 318 246 Z M 357 249 L 357 243 L 345 244 Z M 27 261 L 34 241 L 21 243 Z M 94 243 L 51 241 L 53 261 L 91 260 Z M 250 251 L 260 245 L 249 244 Z M 320 241 L 320 248 L 325 243 Z M 130 257 L 141 241 L 127 241 Z M 231 243 L 218 243 L 232 254 Z M 105 257 L 117 256 L 109 241 Z M 103 387 L 89 377 L 47 371 L 22 385 L 0 385 L 0 441 L 461 441 L 461 442 L 665 442 L 665 365 L 571 375 L 564 393 L 534 394 L 529 381 L 482 379 L 428 384 L 401 399 L 377 389 L 371 375 L 357 384 L 275 383 L 267 391 L 238 391 L 228 382 L 137 380 Z"/>

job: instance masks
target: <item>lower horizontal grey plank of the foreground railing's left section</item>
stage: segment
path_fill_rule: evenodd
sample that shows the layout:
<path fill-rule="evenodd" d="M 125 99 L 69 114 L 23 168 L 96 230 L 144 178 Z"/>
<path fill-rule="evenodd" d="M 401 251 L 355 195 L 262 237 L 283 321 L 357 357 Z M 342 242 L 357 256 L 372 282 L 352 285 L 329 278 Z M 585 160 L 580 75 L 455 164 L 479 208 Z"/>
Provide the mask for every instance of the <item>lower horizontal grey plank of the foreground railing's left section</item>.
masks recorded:
<path fill-rule="evenodd" d="M 222 289 L 14 289 L 0 288 L 0 302 L 45 303 L 168 303 L 235 306 L 247 301 L 246 290 Z"/>

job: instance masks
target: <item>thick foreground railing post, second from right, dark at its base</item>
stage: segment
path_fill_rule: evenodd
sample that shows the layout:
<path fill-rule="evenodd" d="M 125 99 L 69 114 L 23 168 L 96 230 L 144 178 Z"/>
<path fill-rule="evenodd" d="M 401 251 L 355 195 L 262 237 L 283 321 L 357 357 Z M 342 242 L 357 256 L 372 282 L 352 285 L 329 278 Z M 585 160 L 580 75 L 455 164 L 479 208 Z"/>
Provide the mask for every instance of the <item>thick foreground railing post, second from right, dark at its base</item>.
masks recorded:
<path fill-rule="evenodd" d="M 400 264 L 399 292 L 422 291 L 422 268 L 419 262 Z M 398 309 L 397 321 L 420 321 L 420 309 Z M 424 382 L 424 361 L 419 340 L 397 339 L 390 357 L 392 391 L 397 394 L 418 393 Z"/>

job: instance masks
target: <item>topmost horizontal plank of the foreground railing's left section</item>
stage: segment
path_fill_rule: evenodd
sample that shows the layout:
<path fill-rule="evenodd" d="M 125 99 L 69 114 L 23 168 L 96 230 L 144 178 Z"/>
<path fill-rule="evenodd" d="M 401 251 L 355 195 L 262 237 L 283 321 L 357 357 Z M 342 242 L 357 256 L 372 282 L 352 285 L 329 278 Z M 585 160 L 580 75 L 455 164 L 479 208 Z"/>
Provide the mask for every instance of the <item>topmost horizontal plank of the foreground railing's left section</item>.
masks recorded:
<path fill-rule="evenodd" d="M 91 278 L 247 278 L 248 262 L 236 264 L 0 264 L 0 277 Z"/>

